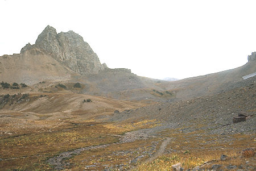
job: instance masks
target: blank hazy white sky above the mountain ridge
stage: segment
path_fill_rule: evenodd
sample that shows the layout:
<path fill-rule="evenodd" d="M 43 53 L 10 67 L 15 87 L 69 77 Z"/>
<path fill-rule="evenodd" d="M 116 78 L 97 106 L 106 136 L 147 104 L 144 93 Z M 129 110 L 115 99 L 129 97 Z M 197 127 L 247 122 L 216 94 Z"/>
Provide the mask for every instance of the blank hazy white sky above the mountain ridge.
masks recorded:
<path fill-rule="evenodd" d="M 0 56 L 47 25 L 73 30 L 101 63 L 139 76 L 186 78 L 236 68 L 256 51 L 256 1 L 0 0 Z"/>

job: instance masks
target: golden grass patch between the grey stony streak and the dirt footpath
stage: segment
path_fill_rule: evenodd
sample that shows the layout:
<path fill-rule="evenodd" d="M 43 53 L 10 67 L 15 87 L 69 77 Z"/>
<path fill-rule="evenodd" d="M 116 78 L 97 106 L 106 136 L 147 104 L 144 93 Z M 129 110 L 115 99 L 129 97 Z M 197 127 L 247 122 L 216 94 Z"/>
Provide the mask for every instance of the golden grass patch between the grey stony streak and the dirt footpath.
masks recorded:
<path fill-rule="evenodd" d="M 159 141 L 159 139 L 137 140 L 130 143 L 112 144 L 106 148 L 84 151 L 80 155 L 76 155 L 68 160 L 68 162 L 73 164 L 70 169 L 84 170 L 86 165 L 94 165 L 96 163 L 98 164 L 96 164 L 97 170 L 104 170 L 104 165 L 114 166 L 120 164 L 123 164 L 123 169 L 129 169 L 131 167 L 130 161 L 142 155 L 144 151 L 150 151 L 154 141 Z M 148 156 L 144 157 L 147 158 Z"/>

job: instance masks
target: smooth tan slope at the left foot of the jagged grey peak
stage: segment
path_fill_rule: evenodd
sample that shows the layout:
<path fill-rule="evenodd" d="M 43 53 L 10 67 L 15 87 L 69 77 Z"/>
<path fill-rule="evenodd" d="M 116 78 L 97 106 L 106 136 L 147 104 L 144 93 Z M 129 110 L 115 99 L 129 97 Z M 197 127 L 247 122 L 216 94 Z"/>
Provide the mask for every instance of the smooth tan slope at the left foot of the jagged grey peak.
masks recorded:
<path fill-rule="evenodd" d="M 76 75 L 72 70 L 41 52 L 30 49 L 25 53 L 0 57 L 0 80 L 35 84 L 43 80 L 68 80 Z"/>

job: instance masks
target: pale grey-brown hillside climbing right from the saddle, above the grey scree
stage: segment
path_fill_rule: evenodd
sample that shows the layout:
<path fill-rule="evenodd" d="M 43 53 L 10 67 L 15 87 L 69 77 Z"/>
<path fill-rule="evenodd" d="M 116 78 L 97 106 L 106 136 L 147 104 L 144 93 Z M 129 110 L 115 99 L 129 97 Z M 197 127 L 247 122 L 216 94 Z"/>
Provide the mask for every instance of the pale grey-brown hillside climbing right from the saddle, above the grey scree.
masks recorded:
<path fill-rule="evenodd" d="M 180 99 L 221 93 L 234 87 L 242 86 L 245 82 L 242 77 L 256 72 L 255 66 L 256 62 L 253 60 L 235 69 L 179 81 L 163 82 L 162 86 L 165 89 L 174 91 L 176 98 Z"/>

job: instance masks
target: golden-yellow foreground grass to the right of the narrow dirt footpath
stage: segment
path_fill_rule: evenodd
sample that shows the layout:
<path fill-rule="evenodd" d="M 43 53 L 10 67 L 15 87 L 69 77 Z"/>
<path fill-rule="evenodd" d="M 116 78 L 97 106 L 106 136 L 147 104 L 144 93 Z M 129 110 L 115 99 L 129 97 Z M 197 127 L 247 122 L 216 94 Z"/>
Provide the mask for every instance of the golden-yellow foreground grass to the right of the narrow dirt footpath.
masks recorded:
<path fill-rule="evenodd" d="M 224 137 L 203 134 L 203 131 L 177 132 L 179 132 L 177 129 L 162 132 L 163 135 L 172 137 L 171 143 L 166 148 L 171 149 L 171 153 L 160 156 L 152 162 L 142 163 L 134 170 L 172 170 L 171 165 L 177 162 L 180 162 L 184 169 L 195 168 L 207 161 L 210 161 L 210 164 L 205 165 L 205 169 L 213 164 L 245 165 L 242 149 L 255 148 L 255 135 L 236 134 Z M 249 156 L 254 156 L 252 149 L 246 151 Z M 221 155 L 227 155 L 228 160 L 220 161 Z"/>

